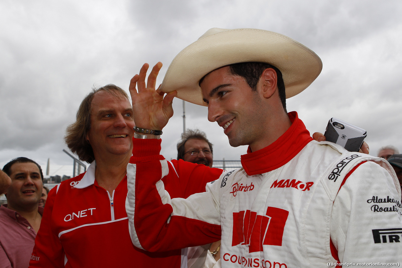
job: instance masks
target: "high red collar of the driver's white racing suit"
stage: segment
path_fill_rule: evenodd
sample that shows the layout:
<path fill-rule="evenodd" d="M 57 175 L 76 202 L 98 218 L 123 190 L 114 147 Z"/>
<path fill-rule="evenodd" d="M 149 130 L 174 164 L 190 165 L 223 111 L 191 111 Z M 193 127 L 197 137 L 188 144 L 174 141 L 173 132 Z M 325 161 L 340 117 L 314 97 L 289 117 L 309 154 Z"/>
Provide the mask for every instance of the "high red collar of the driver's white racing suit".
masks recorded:
<path fill-rule="evenodd" d="M 275 142 L 255 152 L 249 146 L 247 154 L 241 156 L 247 175 L 262 174 L 285 165 L 313 140 L 297 112 L 292 111 L 288 116 L 292 125 Z"/>

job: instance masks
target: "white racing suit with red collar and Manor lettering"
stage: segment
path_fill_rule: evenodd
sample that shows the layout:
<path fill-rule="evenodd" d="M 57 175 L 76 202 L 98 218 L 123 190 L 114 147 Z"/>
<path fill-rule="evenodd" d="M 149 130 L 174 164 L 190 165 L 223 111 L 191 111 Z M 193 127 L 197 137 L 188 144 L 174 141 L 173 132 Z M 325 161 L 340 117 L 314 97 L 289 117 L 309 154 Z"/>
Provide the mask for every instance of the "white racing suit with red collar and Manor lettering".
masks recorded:
<path fill-rule="evenodd" d="M 392 167 L 316 142 L 297 114 L 289 118 L 291 128 L 277 141 L 249 150 L 243 168 L 187 199 L 170 199 L 164 190 L 168 165 L 158 155 L 160 141 L 134 139 L 127 175 L 135 194 L 126 202 L 134 245 L 164 251 L 222 235 L 222 267 L 401 262 L 401 193 Z"/>

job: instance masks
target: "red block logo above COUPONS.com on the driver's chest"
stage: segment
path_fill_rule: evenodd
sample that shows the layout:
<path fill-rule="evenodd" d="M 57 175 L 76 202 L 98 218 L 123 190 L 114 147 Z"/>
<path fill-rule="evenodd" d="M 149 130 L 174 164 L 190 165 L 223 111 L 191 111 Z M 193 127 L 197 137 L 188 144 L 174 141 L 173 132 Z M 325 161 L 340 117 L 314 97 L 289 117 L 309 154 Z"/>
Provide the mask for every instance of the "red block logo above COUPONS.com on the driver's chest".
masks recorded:
<path fill-rule="evenodd" d="M 269 206 L 265 215 L 246 210 L 233 212 L 232 246 L 248 245 L 248 252 L 263 251 L 263 245 L 282 245 L 289 212 Z"/>

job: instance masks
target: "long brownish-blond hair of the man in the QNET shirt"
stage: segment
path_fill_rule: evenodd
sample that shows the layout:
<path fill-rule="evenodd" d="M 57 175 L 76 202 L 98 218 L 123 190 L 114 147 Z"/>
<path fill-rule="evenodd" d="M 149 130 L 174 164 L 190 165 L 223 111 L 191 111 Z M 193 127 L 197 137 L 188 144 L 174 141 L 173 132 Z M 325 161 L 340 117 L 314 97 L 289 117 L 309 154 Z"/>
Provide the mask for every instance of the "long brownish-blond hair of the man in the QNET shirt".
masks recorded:
<path fill-rule="evenodd" d="M 91 144 L 86 140 L 86 134 L 88 134 L 91 128 L 92 100 L 94 99 L 95 93 L 99 91 L 106 91 L 115 97 L 125 97 L 128 99 L 128 95 L 123 89 L 116 85 L 109 84 L 105 87 L 92 89 L 92 92 L 86 95 L 82 100 L 77 111 L 76 122 L 67 127 L 64 141 L 72 153 L 78 155 L 81 161 L 88 163 L 92 163 L 92 161 L 95 160 L 94 151 L 92 150 Z"/>

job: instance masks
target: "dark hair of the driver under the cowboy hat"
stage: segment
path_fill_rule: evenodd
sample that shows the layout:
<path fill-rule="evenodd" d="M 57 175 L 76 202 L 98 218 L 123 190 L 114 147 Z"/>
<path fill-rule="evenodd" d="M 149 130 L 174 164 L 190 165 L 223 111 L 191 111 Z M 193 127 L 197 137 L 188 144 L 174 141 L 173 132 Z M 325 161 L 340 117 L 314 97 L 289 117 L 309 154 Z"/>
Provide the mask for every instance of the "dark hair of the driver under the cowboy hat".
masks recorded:
<path fill-rule="evenodd" d="M 283 82 L 282 72 L 278 68 L 265 62 L 240 62 L 229 65 L 230 73 L 243 77 L 252 91 L 257 90 L 257 84 L 260 80 L 261 74 L 263 74 L 263 71 L 267 68 L 272 68 L 277 73 L 279 97 L 281 98 L 283 109 L 286 112 L 285 83 Z M 207 74 L 205 76 L 207 76 Z M 199 85 L 201 85 L 205 76 L 201 78 Z"/>

